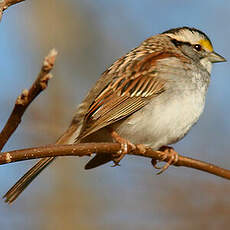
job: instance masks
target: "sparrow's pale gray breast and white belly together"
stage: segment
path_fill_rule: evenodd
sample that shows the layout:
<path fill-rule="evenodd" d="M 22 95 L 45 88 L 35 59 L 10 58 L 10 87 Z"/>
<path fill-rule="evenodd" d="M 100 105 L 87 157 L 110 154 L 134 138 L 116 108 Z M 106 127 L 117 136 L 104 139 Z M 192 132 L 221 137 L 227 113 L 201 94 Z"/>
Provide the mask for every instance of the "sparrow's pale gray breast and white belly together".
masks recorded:
<path fill-rule="evenodd" d="M 197 122 L 204 109 L 209 74 L 187 70 L 181 77 L 171 72 L 164 93 L 116 126 L 122 137 L 158 149 L 179 141 Z"/>

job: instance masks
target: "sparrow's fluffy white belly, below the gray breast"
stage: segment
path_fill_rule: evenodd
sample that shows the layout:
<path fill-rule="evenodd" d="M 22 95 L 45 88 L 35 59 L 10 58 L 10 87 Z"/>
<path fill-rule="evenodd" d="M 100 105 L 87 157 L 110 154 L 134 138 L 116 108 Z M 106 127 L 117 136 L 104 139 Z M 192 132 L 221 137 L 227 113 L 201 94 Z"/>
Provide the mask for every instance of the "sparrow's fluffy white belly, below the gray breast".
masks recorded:
<path fill-rule="evenodd" d="M 204 95 L 159 98 L 131 115 L 116 127 L 117 132 L 134 144 L 154 149 L 182 139 L 199 119 L 204 108 Z"/>

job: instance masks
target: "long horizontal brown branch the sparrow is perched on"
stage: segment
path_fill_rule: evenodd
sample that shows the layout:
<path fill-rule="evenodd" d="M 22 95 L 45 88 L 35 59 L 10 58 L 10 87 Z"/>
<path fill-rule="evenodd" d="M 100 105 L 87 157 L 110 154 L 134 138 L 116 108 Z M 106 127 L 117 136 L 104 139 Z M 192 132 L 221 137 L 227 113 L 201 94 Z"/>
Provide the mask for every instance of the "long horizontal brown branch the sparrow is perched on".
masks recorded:
<path fill-rule="evenodd" d="M 4 152 L 0 154 L 0 165 L 36 159 L 44 157 L 57 157 L 57 156 L 90 156 L 94 154 L 116 154 L 120 151 L 120 144 L 117 143 L 82 143 L 75 145 L 49 145 L 38 148 L 29 148 L 15 150 L 11 152 Z M 136 148 L 135 151 L 129 151 L 128 154 L 147 157 L 155 160 L 162 160 L 162 152 L 153 151 L 151 148 Z M 163 160 L 167 162 L 171 155 Z M 207 173 L 214 174 L 225 179 L 230 179 L 230 170 L 220 168 L 216 165 L 195 160 L 189 157 L 179 156 L 178 161 L 174 166 L 184 166 L 189 168 L 198 169 Z"/>

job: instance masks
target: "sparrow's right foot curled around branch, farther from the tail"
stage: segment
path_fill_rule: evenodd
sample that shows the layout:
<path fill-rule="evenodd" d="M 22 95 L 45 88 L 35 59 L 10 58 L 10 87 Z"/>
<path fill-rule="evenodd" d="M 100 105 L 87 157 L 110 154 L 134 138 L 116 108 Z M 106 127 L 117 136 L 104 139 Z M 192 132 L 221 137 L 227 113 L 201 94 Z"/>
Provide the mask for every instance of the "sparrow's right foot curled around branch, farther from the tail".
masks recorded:
<path fill-rule="evenodd" d="M 152 165 L 156 169 L 160 169 L 160 171 L 157 173 L 158 175 L 163 173 L 165 170 L 168 169 L 170 165 L 175 164 L 178 161 L 179 154 L 174 150 L 174 148 L 169 146 L 162 146 L 159 149 L 159 153 L 161 156 L 161 161 L 164 161 L 166 158 L 169 157 L 169 160 L 166 162 L 166 164 L 163 167 L 158 167 L 157 163 L 158 161 L 155 159 L 152 159 Z"/>

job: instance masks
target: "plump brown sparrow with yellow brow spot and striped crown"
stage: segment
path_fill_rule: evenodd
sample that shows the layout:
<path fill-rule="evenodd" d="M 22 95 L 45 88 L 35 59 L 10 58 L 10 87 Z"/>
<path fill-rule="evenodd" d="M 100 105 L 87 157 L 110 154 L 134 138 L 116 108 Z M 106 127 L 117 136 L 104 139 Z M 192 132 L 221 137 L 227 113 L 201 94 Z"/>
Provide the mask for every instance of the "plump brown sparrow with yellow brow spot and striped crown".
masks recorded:
<path fill-rule="evenodd" d="M 85 169 L 109 161 L 118 165 L 127 146 L 171 150 L 167 146 L 181 140 L 203 112 L 212 64 L 225 61 L 196 28 L 147 38 L 102 73 L 56 144 L 121 144 L 120 156 L 95 155 Z M 12 203 L 54 159 L 39 160 L 4 195 L 5 202 Z"/>

